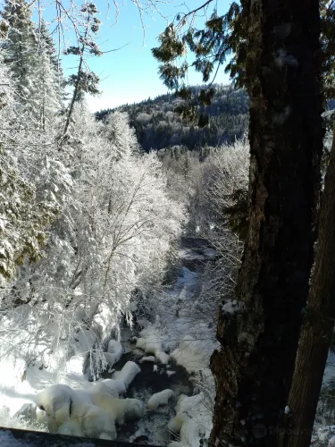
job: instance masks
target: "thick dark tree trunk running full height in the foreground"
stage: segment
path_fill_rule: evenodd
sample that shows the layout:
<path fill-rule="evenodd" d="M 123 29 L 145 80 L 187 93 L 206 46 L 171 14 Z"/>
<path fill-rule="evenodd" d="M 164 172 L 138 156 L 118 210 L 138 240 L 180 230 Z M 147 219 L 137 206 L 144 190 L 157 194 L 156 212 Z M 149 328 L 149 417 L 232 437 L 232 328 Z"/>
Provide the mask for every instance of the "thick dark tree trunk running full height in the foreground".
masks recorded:
<path fill-rule="evenodd" d="M 279 445 L 314 258 L 322 154 L 318 0 L 242 0 L 249 36 L 249 228 L 220 311 L 212 445 Z"/>

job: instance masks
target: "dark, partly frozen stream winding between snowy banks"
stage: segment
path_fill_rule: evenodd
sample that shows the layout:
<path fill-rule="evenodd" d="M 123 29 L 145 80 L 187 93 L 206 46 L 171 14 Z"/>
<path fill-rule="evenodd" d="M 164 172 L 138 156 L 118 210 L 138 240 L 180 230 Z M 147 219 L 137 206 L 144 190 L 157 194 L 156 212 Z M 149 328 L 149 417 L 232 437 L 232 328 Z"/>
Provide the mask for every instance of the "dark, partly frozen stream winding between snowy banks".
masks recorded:
<path fill-rule="evenodd" d="M 203 270 L 204 264 L 215 256 L 214 250 L 204 247 L 202 240 L 184 240 L 183 245 L 184 247 L 180 249 L 181 266 L 178 278 L 172 289 L 167 291 L 169 298 L 166 304 L 171 311 L 169 315 L 166 315 L 165 311 L 163 312 L 166 316 L 163 321 L 163 326 L 166 329 L 166 340 L 163 340 L 162 344 L 166 344 L 165 348 L 167 349 L 164 349 L 164 351 L 168 353 L 173 350 L 184 335 L 192 332 L 193 328 L 189 326 L 193 324 L 193 321 L 188 321 L 185 309 L 188 312 L 189 306 L 194 303 L 199 292 L 198 272 Z M 197 332 L 198 329 L 199 327 L 197 327 Z M 210 332 L 213 333 L 213 329 L 210 328 Z M 193 333 L 192 335 L 196 334 Z M 161 363 L 157 358 L 153 361 L 152 356 L 145 354 L 143 350 L 136 347 L 133 333 L 130 332 L 128 327 L 121 331 L 121 344 L 125 352 L 121 359 L 113 365 L 113 369 L 121 370 L 128 361 L 136 362 L 141 368 L 141 372 L 130 384 L 125 397 L 147 402 L 154 393 L 172 389 L 176 398 L 172 399 L 168 405 L 159 407 L 155 411 L 147 410 L 143 418 L 121 426 L 118 429 L 117 439 L 124 442 L 166 445 L 176 439 L 167 429 L 167 425 L 175 416 L 178 397 L 180 394 L 187 396 L 194 394 L 194 386 L 191 380 L 194 373 L 190 373 L 185 367 L 178 365 L 173 358 L 167 364 Z M 150 360 L 143 361 L 143 358 L 149 358 Z M 180 363 L 183 363 L 183 361 Z M 105 379 L 111 378 L 112 372 L 106 370 L 103 377 Z"/>

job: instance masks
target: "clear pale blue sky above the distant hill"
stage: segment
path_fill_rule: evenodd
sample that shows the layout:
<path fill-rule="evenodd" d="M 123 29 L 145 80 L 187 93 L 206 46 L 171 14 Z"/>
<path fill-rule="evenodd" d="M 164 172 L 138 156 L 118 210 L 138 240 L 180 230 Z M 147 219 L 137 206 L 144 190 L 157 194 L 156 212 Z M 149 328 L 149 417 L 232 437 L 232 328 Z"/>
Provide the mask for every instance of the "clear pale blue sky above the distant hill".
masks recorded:
<path fill-rule="evenodd" d="M 169 0 L 166 1 L 169 2 Z M 111 11 L 107 18 L 105 16 L 106 0 L 97 2 L 101 12 L 99 18 L 103 21 L 98 34 L 101 49 L 108 51 L 128 45 L 119 51 L 89 59 L 89 68 L 96 72 L 102 80 L 100 85 L 102 94 L 99 97 L 87 98 L 88 106 L 92 112 L 125 103 L 138 102 L 147 99 L 147 97 L 156 97 L 167 92 L 157 74 L 158 63 L 151 54 L 151 48 L 157 46 L 157 36 L 164 30 L 167 21 L 158 13 L 154 13 L 153 17 L 144 16 L 146 40 L 145 46 L 143 46 L 143 29 L 137 6 L 131 0 L 123 0 L 123 5 L 122 2 L 119 2 L 121 4 L 119 21 L 112 26 L 114 22 L 113 1 L 110 3 Z M 194 9 L 204 3 L 205 0 L 174 0 L 162 4 L 160 10 L 164 16 L 172 18 L 180 11 L 185 11 L 187 7 Z M 218 12 L 225 13 L 230 3 L 230 0 L 218 0 L 220 8 Z M 212 9 L 213 6 L 210 6 L 209 11 Z M 73 57 L 63 57 L 65 74 L 69 73 L 67 67 L 73 67 L 74 63 Z M 217 81 L 223 83 L 229 81 L 223 69 L 219 72 Z M 189 73 L 188 83 L 190 85 L 200 84 L 201 76 L 196 72 Z"/>

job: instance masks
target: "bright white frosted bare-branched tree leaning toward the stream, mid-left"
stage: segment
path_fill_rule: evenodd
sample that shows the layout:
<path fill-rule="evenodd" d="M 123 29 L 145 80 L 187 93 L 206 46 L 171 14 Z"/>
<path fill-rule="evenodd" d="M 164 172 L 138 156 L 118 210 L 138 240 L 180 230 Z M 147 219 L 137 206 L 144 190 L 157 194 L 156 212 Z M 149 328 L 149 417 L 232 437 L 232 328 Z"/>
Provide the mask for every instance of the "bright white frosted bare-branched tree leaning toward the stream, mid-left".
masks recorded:
<path fill-rule="evenodd" d="M 83 124 L 92 130 L 88 122 L 80 122 Z M 96 131 L 104 134 L 99 127 Z M 130 309 L 135 288 L 146 294 L 153 283 L 162 281 L 170 243 L 178 236 L 183 213 L 167 196 L 166 179 L 156 156 L 132 153 L 136 140 L 130 138 L 133 134 L 125 121 L 114 128 L 116 144 L 87 135 L 80 195 L 85 199 L 87 228 L 96 240 L 96 262 L 87 259 L 88 265 L 81 271 L 86 272 L 85 295 L 93 290 L 98 293 L 94 301 L 113 314 L 109 321 L 115 321 Z M 83 257 L 85 252 L 87 249 Z"/>

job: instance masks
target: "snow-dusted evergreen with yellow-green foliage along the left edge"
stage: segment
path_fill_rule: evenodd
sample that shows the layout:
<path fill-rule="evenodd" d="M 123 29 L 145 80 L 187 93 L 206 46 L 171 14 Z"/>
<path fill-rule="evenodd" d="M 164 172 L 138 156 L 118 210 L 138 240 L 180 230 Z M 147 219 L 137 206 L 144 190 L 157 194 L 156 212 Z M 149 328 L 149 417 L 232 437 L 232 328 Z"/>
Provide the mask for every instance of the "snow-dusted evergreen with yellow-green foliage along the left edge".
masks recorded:
<path fill-rule="evenodd" d="M 15 128 L 14 118 L 20 117 L 13 96 L 12 81 L 2 64 L 0 69 L 0 283 L 13 279 L 16 267 L 25 260 L 37 261 L 46 243 L 46 226 L 53 220 L 58 207 L 50 197 L 39 196 L 34 181 L 27 173 L 29 165 L 18 164 L 20 147 L 26 135 Z M 19 116 L 17 116 L 19 114 Z M 20 121 L 20 120 L 19 120 Z M 29 126 L 28 126 L 29 127 Z M 34 136 L 36 138 L 36 135 Z M 28 161 L 29 157 L 21 157 Z"/>

